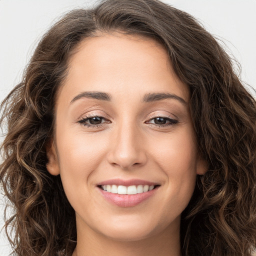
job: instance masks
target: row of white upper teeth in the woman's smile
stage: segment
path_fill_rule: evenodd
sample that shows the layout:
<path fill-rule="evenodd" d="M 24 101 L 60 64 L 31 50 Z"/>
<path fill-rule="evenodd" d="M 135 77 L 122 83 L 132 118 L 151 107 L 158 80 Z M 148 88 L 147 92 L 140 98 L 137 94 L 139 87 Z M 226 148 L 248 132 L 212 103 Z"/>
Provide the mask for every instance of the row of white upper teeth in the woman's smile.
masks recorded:
<path fill-rule="evenodd" d="M 101 185 L 101 188 L 110 193 L 117 194 L 137 194 L 144 193 L 150 191 L 154 188 L 154 185 L 131 185 L 131 186 L 123 186 L 123 185 Z"/>

